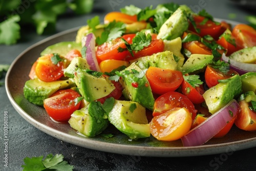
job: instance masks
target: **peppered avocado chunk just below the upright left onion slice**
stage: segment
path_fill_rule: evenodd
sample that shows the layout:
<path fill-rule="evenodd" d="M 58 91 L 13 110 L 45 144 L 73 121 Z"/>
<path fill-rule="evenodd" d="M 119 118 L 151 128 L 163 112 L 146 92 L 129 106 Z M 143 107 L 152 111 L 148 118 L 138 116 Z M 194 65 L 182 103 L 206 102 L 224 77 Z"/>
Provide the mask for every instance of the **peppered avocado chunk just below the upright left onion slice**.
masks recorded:
<path fill-rule="evenodd" d="M 78 68 L 74 76 L 77 88 L 86 101 L 91 102 L 105 97 L 115 89 L 114 84 L 108 78 L 102 75 L 94 76 L 87 71 L 89 70 Z"/>

